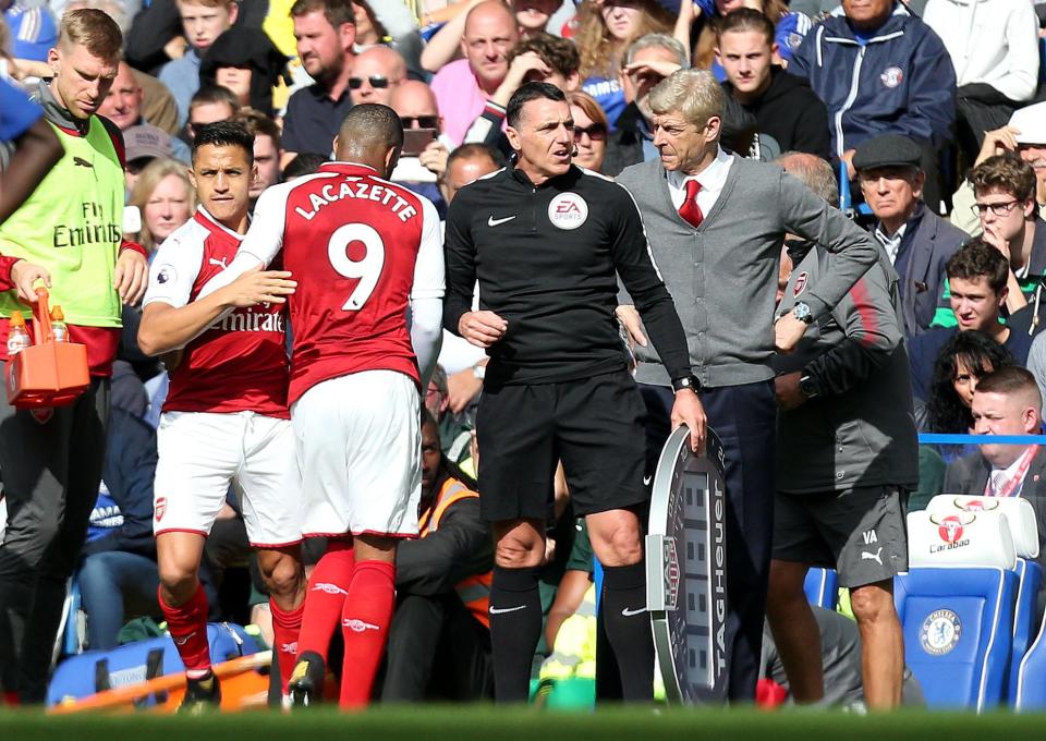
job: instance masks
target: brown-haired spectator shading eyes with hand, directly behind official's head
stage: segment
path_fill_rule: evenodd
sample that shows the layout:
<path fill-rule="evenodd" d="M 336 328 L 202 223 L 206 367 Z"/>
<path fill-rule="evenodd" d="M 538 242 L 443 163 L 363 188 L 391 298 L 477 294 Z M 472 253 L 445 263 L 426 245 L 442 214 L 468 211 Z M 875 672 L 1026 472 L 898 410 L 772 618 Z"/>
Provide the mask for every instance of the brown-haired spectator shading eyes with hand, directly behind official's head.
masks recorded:
<path fill-rule="evenodd" d="M 523 83 L 550 83 L 563 93 L 581 86 L 581 57 L 572 41 L 549 34 L 519 41 L 508 54 L 509 73 L 495 90 L 483 113 L 465 133 L 464 144 L 486 144 L 508 157 L 512 153 L 506 138 L 504 111 L 509 99 Z"/>

